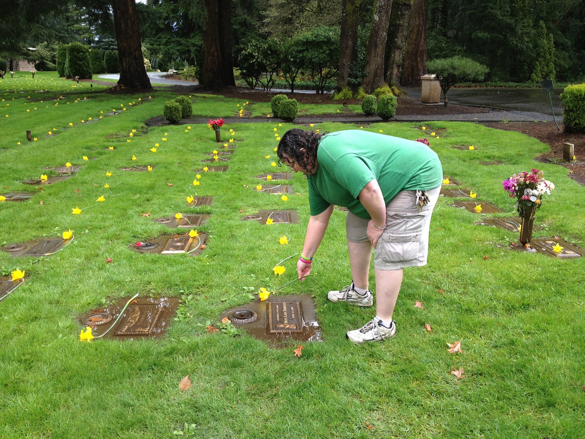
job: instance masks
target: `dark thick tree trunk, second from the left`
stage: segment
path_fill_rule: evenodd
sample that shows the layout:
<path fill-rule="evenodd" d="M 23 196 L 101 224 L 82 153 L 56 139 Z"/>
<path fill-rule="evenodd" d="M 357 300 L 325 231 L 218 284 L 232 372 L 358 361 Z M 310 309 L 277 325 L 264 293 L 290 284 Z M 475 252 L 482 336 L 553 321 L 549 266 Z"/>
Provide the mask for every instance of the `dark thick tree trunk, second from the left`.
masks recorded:
<path fill-rule="evenodd" d="M 235 85 L 232 65 L 232 0 L 205 0 L 203 66 L 199 83 L 205 87 Z M 221 17 L 220 17 L 221 15 Z"/>

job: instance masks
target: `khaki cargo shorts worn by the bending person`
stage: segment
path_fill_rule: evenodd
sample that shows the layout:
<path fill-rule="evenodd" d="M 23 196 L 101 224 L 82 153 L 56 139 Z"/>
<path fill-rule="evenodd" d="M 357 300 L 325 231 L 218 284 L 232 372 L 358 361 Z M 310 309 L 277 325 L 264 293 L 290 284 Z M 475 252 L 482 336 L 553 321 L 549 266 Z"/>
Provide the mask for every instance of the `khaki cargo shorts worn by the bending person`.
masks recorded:
<path fill-rule="evenodd" d="M 386 205 L 386 229 L 374 249 L 374 267 L 397 270 L 426 265 L 431 215 L 441 187 L 426 191 L 429 203 L 418 211 L 417 191 L 401 191 Z M 366 242 L 370 220 L 347 213 L 347 241 Z"/>

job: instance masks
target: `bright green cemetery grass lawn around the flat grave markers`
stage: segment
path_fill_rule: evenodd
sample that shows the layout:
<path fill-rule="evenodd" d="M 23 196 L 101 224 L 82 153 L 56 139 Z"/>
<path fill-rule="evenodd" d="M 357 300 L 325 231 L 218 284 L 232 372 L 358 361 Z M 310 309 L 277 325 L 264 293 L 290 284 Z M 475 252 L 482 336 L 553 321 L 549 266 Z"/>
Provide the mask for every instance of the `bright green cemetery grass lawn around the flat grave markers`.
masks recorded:
<path fill-rule="evenodd" d="M 50 176 L 48 166 L 84 167 L 29 201 L 0 203 L 2 244 L 74 232 L 70 245 L 47 258 L 0 252 L 2 273 L 20 269 L 27 276 L 0 301 L 0 438 L 170 438 L 184 423 L 195 424 L 201 438 L 585 436 L 583 258 L 507 249 L 518 234 L 474 225 L 480 215 L 441 198 L 428 265 L 405 269 L 394 314 L 397 337 L 356 347 L 345 332 L 375 311 L 326 300 L 326 291 L 351 280 L 345 214 L 336 210 L 315 255 L 316 275 L 277 293 L 314 295 L 324 342 L 303 343 L 296 358 L 292 342 L 274 349 L 246 333 L 210 334 L 208 320 L 218 325 L 223 310 L 249 301 L 245 287 L 275 289 L 296 276 L 294 258 L 284 263 L 282 276 L 272 268 L 301 250 L 309 218 L 304 176 L 294 174 L 288 182 L 295 194 L 287 201 L 253 190 L 261 183 L 254 176 L 282 170 L 271 166 L 273 129 L 283 134 L 294 125 L 280 126 L 276 119 L 225 125 L 223 138 L 234 129 L 236 145 L 228 172 L 201 173 L 200 186 L 193 187 L 192 170 L 204 165 L 205 153 L 220 148 L 207 125 L 144 126 L 162 113 L 173 97 L 169 92 L 109 95 L 97 92 L 102 86 L 93 92 L 87 84 L 73 88 L 55 74 L 37 73 L 35 80 L 26 74 L 0 80 L 2 193 L 36 190 L 19 181 Z M 40 88 L 48 91 L 35 94 Z M 202 95 L 192 101 L 194 113 L 208 118 L 233 115 L 242 104 Z M 112 109 L 118 114 L 107 115 Z M 26 129 L 36 141 L 26 141 Z M 535 236 L 558 235 L 585 246 L 585 187 L 570 180 L 565 168 L 535 162 L 548 149 L 538 140 L 463 122 L 427 122 L 425 132 L 410 123 L 364 129 L 409 139 L 436 132 L 431 148 L 445 176 L 503 208 L 501 216 L 515 214 L 501 181 L 543 169 L 556 190 L 543 199 L 535 221 L 543 229 Z M 157 152 L 151 152 L 156 143 Z M 451 148 L 469 145 L 475 149 Z M 144 158 L 133 161 L 133 155 Z M 495 160 L 504 164 L 480 164 Z M 133 164 L 154 169 L 118 170 Z M 215 196 L 214 203 L 187 207 L 185 198 L 194 191 Z M 96 203 L 100 196 L 105 201 Z M 81 214 L 71 214 L 75 207 Z M 300 224 L 240 221 L 259 210 L 285 208 L 298 211 Z M 152 218 L 198 211 L 211 214 L 200 229 L 209 235 L 201 255 L 129 249 L 168 233 Z M 150 218 L 142 217 L 146 212 Z M 288 245 L 278 243 L 283 235 Z M 183 301 L 181 318 L 163 338 L 79 341 L 82 327 L 75 316 L 136 293 L 192 299 Z M 414 307 L 415 301 L 425 308 Z M 446 342 L 459 340 L 463 354 L 450 354 Z M 453 367 L 463 368 L 465 378 L 449 375 Z M 183 393 L 178 383 L 187 374 L 193 386 Z"/>

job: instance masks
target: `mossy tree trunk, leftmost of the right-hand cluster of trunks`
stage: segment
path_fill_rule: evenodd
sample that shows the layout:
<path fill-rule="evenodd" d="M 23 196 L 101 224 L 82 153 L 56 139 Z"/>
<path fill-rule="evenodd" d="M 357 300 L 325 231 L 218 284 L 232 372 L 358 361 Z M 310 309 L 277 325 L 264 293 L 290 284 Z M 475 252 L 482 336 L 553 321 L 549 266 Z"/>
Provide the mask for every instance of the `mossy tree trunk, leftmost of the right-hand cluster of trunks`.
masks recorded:
<path fill-rule="evenodd" d="M 341 91 L 349 85 L 349 68 L 352 63 L 357 61 L 359 9 L 360 0 L 343 0 L 337 87 L 335 87 L 335 91 Z"/>

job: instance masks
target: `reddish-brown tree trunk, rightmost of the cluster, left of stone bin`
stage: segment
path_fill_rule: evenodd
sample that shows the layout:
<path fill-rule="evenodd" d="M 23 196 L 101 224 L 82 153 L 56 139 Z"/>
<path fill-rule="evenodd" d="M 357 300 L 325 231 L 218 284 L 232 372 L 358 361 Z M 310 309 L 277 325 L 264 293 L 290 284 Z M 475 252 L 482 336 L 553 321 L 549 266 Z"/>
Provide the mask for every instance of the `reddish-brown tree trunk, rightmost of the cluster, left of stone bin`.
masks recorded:
<path fill-rule="evenodd" d="M 408 20 L 408 38 L 406 53 L 402 63 L 400 84 L 418 85 L 421 76 L 426 74 L 426 23 L 428 0 L 414 0 L 410 19 Z"/>

